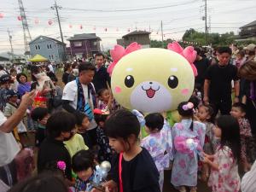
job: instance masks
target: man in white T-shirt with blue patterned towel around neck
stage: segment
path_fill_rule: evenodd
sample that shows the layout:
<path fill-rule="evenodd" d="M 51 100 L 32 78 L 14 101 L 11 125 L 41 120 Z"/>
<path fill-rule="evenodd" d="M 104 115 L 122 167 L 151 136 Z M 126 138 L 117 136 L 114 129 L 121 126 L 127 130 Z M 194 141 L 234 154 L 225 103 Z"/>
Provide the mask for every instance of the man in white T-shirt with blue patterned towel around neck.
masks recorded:
<path fill-rule="evenodd" d="M 94 103 L 96 102 L 95 90 L 91 81 L 95 75 L 96 67 L 90 62 L 79 65 L 79 77 L 66 84 L 63 90 L 62 106 L 69 113 L 79 111 L 85 113 L 90 119 L 87 130 L 91 143 L 89 148 L 96 145 L 96 121 L 93 116 Z"/>

